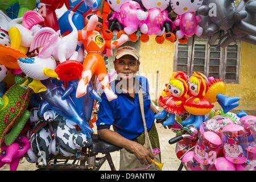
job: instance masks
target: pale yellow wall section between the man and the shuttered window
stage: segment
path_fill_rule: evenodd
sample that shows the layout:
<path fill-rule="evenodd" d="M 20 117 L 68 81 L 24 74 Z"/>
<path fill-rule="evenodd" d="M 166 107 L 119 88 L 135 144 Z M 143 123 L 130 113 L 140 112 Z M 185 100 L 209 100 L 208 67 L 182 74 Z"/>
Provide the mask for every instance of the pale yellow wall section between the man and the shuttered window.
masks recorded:
<path fill-rule="evenodd" d="M 151 100 L 158 98 L 172 76 L 174 66 L 175 44 L 165 41 L 164 44 L 157 44 L 155 37 L 151 36 L 150 42 L 141 43 L 141 68 L 140 75 L 146 76 L 150 84 Z M 158 96 L 156 93 L 156 71 L 159 71 Z"/>

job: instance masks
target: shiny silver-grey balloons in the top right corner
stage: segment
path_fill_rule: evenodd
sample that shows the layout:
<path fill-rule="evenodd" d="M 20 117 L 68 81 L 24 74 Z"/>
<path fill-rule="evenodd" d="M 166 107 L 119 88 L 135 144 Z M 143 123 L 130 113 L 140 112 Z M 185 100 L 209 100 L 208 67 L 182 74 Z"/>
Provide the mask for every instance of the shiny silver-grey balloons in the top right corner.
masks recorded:
<path fill-rule="evenodd" d="M 214 7 L 210 6 L 212 3 Z M 222 48 L 236 40 L 256 44 L 255 0 L 241 0 L 237 6 L 232 0 L 205 0 L 198 13 L 202 20 L 200 26 L 204 29 L 203 36 L 210 39 L 210 44 L 220 37 L 214 36 L 220 31 L 224 31 L 218 43 Z"/>

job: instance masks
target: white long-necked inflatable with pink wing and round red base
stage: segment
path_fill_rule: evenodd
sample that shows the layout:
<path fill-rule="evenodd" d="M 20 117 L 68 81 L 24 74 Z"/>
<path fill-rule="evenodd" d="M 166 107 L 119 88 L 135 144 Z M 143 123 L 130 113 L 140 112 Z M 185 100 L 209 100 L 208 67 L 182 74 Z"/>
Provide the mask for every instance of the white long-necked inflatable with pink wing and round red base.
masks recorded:
<path fill-rule="evenodd" d="M 82 64 L 77 61 L 78 52 L 76 52 L 78 33 L 75 25 L 72 22 L 72 17 L 77 8 L 83 3 L 81 1 L 68 15 L 69 23 L 73 28 L 71 34 L 60 38 L 60 31 L 55 32 L 52 28 L 41 28 L 34 35 L 30 52 L 35 48 L 43 46 L 39 52 L 39 57 L 48 58 L 52 55 L 56 60 L 60 61 L 57 65 L 56 73 L 63 81 L 75 80 L 81 75 Z M 42 55 L 44 52 L 45 56 Z M 69 59 L 69 60 L 67 60 Z"/>

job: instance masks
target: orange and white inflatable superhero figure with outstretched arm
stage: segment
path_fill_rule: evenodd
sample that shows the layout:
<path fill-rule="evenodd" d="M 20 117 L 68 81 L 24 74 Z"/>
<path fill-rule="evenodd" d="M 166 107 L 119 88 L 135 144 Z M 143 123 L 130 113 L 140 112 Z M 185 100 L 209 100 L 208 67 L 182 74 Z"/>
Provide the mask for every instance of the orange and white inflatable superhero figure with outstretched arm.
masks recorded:
<path fill-rule="evenodd" d="M 79 31 L 79 41 L 83 42 L 87 56 L 85 57 L 84 69 L 77 86 L 76 97 L 79 98 L 86 94 L 88 83 L 95 73 L 106 97 L 109 101 L 112 101 L 117 96 L 110 88 L 108 73 L 102 55 L 112 56 L 112 50 L 126 43 L 128 37 L 127 35 L 121 35 L 119 39 L 112 41 L 113 34 L 109 30 L 105 30 L 104 35 L 102 35 L 103 20 L 98 10 L 87 15 L 85 21 L 88 23 L 85 22 L 86 27 Z"/>

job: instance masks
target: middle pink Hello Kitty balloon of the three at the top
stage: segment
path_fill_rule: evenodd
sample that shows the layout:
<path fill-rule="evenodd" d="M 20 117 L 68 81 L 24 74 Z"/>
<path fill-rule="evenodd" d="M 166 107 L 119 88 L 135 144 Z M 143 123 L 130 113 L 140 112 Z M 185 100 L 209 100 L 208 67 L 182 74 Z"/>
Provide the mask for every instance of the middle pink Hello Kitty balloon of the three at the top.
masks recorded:
<path fill-rule="evenodd" d="M 162 36 L 165 32 L 164 22 L 172 22 L 168 18 L 168 11 L 166 10 L 170 5 L 170 0 L 142 0 L 141 2 L 148 10 L 147 19 L 141 25 L 141 32 L 148 35 Z"/>

